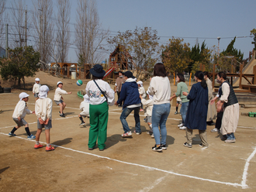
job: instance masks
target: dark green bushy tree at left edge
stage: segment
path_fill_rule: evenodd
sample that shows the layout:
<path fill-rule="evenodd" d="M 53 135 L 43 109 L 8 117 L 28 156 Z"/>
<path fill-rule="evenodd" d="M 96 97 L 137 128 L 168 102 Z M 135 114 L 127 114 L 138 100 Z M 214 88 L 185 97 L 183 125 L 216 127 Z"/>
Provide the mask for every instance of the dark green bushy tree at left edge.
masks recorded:
<path fill-rule="evenodd" d="M 25 77 L 33 77 L 36 74 L 40 68 L 39 60 L 40 53 L 33 50 L 33 46 L 9 49 L 9 59 L 0 60 L 0 74 L 5 81 L 18 81 L 18 87 L 23 81 L 25 88 Z"/>

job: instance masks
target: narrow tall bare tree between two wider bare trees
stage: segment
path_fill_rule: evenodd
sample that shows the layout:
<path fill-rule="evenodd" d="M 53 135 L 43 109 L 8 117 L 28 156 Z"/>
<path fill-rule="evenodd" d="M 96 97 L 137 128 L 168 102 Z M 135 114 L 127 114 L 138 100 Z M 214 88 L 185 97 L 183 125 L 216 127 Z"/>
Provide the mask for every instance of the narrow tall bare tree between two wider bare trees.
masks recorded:
<path fill-rule="evenodd" d="M 68 46 L 70 41 L 69 21 L 71 15 L 71 5 L 69 0 L 57 1 L 57 42 L 60 61 L 67 61 Z"/>

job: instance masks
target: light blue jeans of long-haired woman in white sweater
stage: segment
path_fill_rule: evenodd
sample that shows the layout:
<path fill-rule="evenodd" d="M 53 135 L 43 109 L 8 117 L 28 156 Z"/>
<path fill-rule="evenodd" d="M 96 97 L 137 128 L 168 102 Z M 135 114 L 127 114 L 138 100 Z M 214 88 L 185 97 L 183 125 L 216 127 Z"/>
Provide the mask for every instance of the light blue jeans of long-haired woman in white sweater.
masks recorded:
<path fill-rule="evenodd" d="M 164 103 L 161 105 L 154 105 L 152 110 L 152 128 L 154 133 L 154 140 L 156 145 L 166 145 L 166 121 L 170 113 L 171 105 L 170 103 Z M 161 141 L 160 141 L 160 132 L 158 125 L 161 130 Z"/>

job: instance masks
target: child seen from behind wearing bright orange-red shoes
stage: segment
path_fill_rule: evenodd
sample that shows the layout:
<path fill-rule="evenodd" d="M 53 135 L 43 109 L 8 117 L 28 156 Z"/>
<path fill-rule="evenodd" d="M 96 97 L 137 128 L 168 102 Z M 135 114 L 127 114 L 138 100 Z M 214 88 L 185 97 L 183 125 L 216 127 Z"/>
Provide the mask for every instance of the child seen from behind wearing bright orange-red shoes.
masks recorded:
<path fill-rule="evenodd" d="M 48 151 L 53 151 L 54 147 L 50 146 L 50 129 L 52 128 L 51 125 L 51 111 L 53 108 L 53 101 L 50 98 L 47 98 L 49 93 L 49 87 L 47 85 L 43 85 L 40 87 L 39 92 L 39 99 L 36 101 L 35 111 L 37 117 L 37 132 L 36 132 L 36 144 L 34 149 L 42 148 L 43 145 L 39 143 L 40 134 L 42 129 L 45 129 L 45 136 L 47 140 L 47 148 L 45 149 Z"/>

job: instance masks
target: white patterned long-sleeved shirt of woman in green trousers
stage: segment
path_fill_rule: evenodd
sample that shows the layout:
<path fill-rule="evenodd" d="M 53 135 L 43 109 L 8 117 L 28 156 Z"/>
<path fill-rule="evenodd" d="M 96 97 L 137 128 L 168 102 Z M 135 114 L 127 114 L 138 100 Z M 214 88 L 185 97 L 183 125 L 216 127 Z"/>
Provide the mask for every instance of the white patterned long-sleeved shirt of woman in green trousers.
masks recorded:
<path fill-rule="evenodd" d="M 112 88 L 106 81 L 102 81 L 101 79 L 97 79 L 95 81 L 108 98 L 108 104 L 114 105 L 115 91 L 112 90 Z M 90 98 L 91 105 L 99 105 L 106 101 L 106 98 L 104 97 L 102 92 L 99 91 L 99 88 L 97 87 L 94 81 L 89 81 L 87 83 L 85 91 L 86 94 L 88 94 L 88 97 Z"/>

